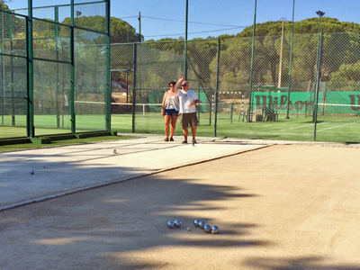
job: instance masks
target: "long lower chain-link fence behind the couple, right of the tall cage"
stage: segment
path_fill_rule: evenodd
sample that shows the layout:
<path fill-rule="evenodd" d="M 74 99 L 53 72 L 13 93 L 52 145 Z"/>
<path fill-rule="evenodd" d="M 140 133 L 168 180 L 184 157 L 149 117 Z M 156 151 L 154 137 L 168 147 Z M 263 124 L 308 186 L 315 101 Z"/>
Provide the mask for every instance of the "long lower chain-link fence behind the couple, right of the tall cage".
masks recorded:
<path fill-rule="evenodd" d="M 162 134 L 167 84 L 185 75 L 201 101 L 199 136 L 360 142 L 359 38 L 337 32 L 114 44 L 112 67 L 128 70 L 132 81 L 127 118 L 113 111 L 112 130 Z"/>

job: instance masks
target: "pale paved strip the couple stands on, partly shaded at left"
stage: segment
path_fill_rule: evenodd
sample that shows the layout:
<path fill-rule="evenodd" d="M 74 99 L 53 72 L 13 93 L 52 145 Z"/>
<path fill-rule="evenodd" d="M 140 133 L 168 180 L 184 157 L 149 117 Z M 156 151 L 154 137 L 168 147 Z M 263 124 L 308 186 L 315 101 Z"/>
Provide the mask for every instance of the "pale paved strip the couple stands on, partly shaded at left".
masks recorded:
<path fill-rule="evenodd" d="M 199 138 L 193 147 L 181 141 L 150 136 L 0 153 L 0 211 L 271 144 Z"/>

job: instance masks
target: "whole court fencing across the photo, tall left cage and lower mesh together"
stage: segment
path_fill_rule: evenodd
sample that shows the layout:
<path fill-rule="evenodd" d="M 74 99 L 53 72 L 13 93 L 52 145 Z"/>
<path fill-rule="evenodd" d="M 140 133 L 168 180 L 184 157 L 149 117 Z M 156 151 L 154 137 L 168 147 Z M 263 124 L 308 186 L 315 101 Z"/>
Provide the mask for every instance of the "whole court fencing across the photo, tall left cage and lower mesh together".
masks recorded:
<path fill-rule="evenodd" d="M 91 17 L 81 9 L 87 4 L 103 5 L 103 30 L 81 24 Z M 67 23 L 58 20 L 62 7 L 70 9 Z M 162 134 L 166 85 L 185 76 L 201 102 L 199 136 L 360 142 L 359 33 L 286 34 L 284 49 L 279 36 L 110 44 L 110 0 L 47 8 L 55 20 L 33 17 L 35 9 L 0 13 L 8 22 L 0 33 L 0 131 L 26 128 L 5 134 L 8 141 Z"/>

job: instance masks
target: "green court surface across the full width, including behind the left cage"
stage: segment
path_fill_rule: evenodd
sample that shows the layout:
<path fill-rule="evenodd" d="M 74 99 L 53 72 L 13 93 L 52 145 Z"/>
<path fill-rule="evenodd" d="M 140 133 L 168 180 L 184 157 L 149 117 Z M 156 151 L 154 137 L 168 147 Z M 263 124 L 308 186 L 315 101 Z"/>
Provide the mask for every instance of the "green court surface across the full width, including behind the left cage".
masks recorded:
<path fill-rule="evenodd" d="M 312 117 L 304 115 L 279 115 L 278 121 L 247 122 L 242 115 L 219 113 L 215 130 L 215 115 L 209 112 L 198 114 L 200 126 L 197 136 L 228 137 L 238 139 L 280 139 L 313 141 L 315 125 Z M 181 117 L 180 117 L 181 118 Z M 182 135 L 180 118 L 177 121 L 175 135 Z M 231 119 L 232 118 L 232 119 Z M 25 116 L 16 117 L 16 127 L 10 126 L 10 120 L 4 119 L 0 126 L 0 139 L 26 137 Z M 132 133 L 132 114 L 112 114 L 112 130 Z M 62 116 L 57 121 L 56 115 L 36 115 L 34 117 L 35 135 L 54 135 L 71 132 L 70 118 Z M 59 126 L 58 126 L 59 125 Z M 76 116 L 76 132 L 105 130 L 103 115 Z M 135 133 L 163 134 L 164 118 L 158 112 L 135 114 Z M 357 116 L 319 116 L 316 125 L 316 141 L 358 143 L 360 142 L 360 117 Z"/>

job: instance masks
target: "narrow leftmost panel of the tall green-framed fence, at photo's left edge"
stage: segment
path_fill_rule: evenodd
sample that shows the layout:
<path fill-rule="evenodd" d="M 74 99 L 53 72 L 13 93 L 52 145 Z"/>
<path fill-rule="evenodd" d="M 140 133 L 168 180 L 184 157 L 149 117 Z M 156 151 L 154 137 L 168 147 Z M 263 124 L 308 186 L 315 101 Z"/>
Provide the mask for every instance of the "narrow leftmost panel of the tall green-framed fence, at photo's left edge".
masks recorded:
<path fill-rule="evenodd" d="M 26 136 L 25 17 L 0 12 L 0 139 Z M 6 127 L 6 128 L 4 128 Z"/>

